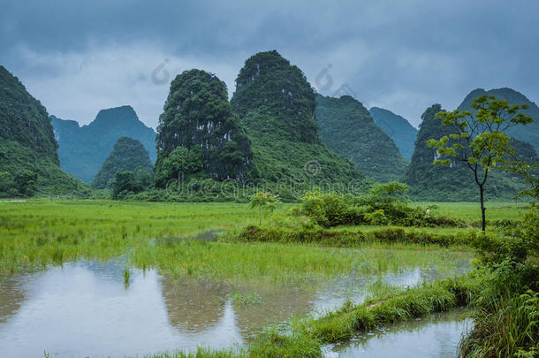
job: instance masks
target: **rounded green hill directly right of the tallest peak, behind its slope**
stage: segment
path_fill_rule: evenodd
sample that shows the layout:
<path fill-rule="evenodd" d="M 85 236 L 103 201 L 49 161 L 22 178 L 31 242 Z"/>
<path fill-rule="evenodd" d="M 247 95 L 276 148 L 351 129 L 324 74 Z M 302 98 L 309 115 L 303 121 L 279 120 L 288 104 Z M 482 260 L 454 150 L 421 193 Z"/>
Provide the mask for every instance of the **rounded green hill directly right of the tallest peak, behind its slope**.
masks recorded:
<path fill-rule="evenodd" d="M 320 137 L 330 149 L 377 181 L 400 179 L 406 161 L 360 102 L 350 95 L 340 98 L 317 95 L 316 102 Z"/>

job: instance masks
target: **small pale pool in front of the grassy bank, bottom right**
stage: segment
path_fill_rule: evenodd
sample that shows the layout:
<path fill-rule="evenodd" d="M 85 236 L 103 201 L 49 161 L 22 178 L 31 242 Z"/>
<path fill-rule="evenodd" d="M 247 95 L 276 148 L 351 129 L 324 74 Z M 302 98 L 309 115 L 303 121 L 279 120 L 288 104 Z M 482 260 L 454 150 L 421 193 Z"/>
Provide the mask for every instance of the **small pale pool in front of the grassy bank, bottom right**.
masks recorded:
<path fill-rule="evenodd" d="M 467 311 L 455 309 L 368 332 L 337 347 L 325 347 L 326 357 L 454 358 L 462 335 L 472 328 Z"/>

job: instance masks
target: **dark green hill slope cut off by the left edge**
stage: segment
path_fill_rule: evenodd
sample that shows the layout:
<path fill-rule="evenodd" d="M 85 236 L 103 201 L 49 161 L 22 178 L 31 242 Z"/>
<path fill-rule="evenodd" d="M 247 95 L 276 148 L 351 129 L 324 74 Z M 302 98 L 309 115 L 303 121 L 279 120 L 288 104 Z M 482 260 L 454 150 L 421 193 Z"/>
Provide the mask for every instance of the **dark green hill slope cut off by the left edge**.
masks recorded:
<path fill-rule="evenodd" d="M 19 79 L 0 65 L 0 192 L 17 195 L 14 179 L 37 174 L 40 194 L 82 194 L 88 188 L 60 170 L 49 114 Z M 34 194 L 34 193 L 21 193 Z"/>

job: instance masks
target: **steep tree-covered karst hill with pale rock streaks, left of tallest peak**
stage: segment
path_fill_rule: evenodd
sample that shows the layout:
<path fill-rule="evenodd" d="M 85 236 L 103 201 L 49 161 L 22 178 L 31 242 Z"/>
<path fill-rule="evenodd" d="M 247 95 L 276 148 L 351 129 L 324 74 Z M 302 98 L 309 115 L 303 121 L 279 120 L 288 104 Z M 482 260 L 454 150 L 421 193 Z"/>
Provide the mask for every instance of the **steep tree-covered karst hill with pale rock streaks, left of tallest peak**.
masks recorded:
<path fill-rule="evenodd" d="M 216 75 L 200 70 L 179 74 L 157 132 L 157 187 L 178 179 L 178 171 L 203 171 L 217 180 L 247 178 L 250 143 L 227 101 L 226 85 Z"/>

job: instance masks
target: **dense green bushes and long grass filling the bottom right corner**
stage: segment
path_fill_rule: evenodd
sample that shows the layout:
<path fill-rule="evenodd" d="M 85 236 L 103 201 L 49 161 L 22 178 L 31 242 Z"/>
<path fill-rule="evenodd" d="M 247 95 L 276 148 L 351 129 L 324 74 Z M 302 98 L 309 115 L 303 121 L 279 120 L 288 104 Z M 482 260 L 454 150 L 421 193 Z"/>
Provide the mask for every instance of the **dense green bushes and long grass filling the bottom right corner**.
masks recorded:
<path fill-rule="evenodd" d="M 474 240 L 483 289 L 462 356 L 535 356 L 539 341 L 539 210 Z"/>

